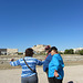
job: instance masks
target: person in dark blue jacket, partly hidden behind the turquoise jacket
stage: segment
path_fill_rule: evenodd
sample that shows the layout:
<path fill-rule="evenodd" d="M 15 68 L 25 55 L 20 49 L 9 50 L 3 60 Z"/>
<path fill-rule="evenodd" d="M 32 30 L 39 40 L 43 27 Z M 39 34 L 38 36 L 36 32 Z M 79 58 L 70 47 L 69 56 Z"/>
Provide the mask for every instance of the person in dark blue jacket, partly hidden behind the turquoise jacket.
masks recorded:
<path fill-rule="evenodd" d="M 46 73 L 48 75 L 48 70 L 49 70 L 49 63 L 52 60 L 52 55 L 51 55 L 51 48 L 50 45 L 45 46 L 45 52 L 48 53 L 45 60 L 43 61 L 43 71 Z"/>

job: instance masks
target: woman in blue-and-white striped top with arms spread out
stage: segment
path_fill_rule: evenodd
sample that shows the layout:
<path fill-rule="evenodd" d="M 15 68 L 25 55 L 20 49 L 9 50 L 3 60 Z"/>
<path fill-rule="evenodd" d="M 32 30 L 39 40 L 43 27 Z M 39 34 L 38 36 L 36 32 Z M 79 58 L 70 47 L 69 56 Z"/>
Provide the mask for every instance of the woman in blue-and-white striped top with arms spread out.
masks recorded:
<path fill-rule="evenodd" d="M 25 50 L 25 56 L 23 59 L 19 59 L 13 62 L 13 59 L 10 60 L 10 65 L 18 66 L 21 65 L 22 73 L 21 73 L 21 83 L 38 83 L 38 75 L 35 65 L 42 65 L 42 61 L 39 61 L 33 56 L 33 50 L 31 48 Z M 24 62 L 25 60 L 25 62 Z M 32 71 L 28 65 L 34 71 Z"/>

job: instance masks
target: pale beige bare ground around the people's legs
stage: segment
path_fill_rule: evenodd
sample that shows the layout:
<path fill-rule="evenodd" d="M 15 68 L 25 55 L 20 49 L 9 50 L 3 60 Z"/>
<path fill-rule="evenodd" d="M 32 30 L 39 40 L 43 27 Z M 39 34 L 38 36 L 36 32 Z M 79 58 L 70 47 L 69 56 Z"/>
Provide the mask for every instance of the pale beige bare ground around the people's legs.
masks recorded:
<path fill-rule="evenodd" d="M 38 68 L 39 83 L 49 83 L 42 66 Z M 83 65 L 64 68 L 63 83 L 83 83 Z M 0 70 L 0 83 L 21 83 L 21 69 Z"/>

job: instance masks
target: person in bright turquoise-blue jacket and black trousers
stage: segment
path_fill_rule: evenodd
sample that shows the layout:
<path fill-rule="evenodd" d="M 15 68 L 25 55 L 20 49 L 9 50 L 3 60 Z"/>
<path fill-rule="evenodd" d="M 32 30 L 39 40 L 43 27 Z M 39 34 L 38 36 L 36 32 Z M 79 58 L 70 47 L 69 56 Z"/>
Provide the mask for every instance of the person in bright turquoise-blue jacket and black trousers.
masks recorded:
<path fill-rule="evenodd" d="M 64 63 L 55 46 L 51 48 L 51 55 L 53 58 L 49 64 L 49 83 L 62 83 Z"/>

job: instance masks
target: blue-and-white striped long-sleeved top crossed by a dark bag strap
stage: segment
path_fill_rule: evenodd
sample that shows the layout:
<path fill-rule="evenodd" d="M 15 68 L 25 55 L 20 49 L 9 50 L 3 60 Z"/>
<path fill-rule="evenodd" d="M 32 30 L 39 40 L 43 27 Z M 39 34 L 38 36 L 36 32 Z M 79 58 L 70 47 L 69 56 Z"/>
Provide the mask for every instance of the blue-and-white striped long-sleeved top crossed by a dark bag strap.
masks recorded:
<path fill-rule="evenodd" d="M 24 58 L 25 62 L 28 63 L 28 65 L 34 70 L 35 70 L 35 65 L 42 65 L 43 62 L 42 61 L 39 61 L 38 59 L 34 59 L 34 58 L 31 58 L 31 56 L 25 56 Z M 18 66 L 18 65 L 21 65 L 22 68 L 22 73 L 21 73 L 21 77 L 28 77 L 28 76 L 32 76 L 34 75 L 35 73 L 33 73 L 28 66 L 27 64 L 24 63 L 23 59 L 19 59 L 14 62 L 10 61 L 10 65 L 12 66 Z"/>

